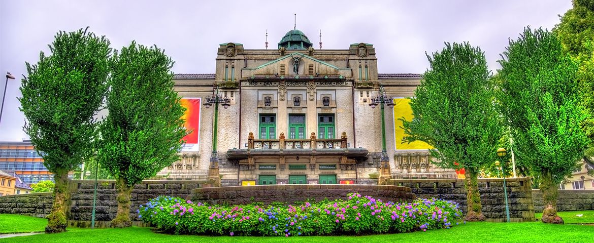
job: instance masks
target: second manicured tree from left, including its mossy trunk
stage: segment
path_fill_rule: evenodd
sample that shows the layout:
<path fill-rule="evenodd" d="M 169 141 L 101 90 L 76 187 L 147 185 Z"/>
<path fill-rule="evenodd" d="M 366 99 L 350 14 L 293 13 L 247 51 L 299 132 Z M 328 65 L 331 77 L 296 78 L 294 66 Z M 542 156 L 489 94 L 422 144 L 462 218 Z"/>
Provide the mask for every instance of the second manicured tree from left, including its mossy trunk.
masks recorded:
<path fill-rule="evenodd" d="M 131 226 L 130 193 L 135 184 L 178 160 L 184 108 L 173 91 L 173 61 L 156 46 L 134 41 L 110 60 L 109 114 L 100 126 L 97 158 L 116 179 L 118 214 L 112 226 Z"/>

